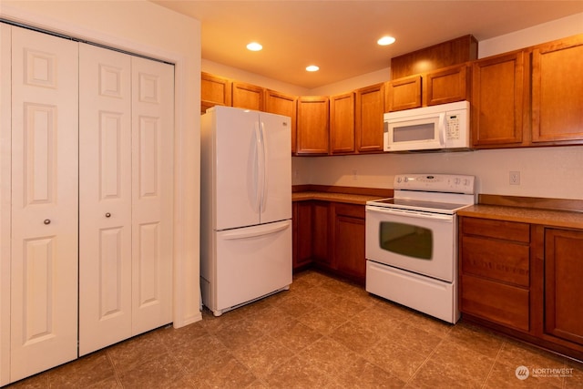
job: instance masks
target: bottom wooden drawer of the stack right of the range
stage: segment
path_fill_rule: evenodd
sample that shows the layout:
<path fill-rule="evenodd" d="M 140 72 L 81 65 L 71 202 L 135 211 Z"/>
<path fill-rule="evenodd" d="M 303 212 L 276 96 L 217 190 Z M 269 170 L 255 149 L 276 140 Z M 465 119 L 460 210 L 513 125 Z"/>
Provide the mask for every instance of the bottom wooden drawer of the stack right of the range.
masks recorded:
<path fill-rule="evenodd" d="M 502 283 L 462 276 L 460 310 L 520 331 L 529 331 L 529 292 Z"/>

